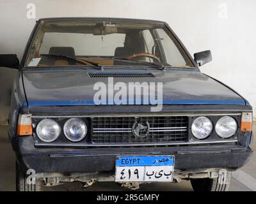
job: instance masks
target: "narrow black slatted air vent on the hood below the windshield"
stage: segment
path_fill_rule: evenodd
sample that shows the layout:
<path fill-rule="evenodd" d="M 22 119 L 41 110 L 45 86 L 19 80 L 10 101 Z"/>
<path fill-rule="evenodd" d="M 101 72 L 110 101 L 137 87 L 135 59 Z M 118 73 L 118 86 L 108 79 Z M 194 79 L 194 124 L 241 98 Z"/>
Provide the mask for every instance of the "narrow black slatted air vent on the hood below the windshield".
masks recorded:
<path fill-rule="evenodd" d="M 119 77 L 119 78 L 143 78 L 154 77 L 152 73 L 140 72 L 90 72 L 88 73 L 91 78 L 104 78 L 104 77 Z"/>

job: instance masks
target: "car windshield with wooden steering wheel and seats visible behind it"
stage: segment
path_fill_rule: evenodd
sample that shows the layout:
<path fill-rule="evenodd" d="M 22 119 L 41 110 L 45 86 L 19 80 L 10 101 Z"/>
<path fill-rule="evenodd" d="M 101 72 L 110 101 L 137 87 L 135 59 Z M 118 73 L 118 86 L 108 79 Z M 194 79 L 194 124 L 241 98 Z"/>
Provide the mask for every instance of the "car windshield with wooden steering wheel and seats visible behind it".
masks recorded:
<path fill-rule="evenodd" d="M 66 58 L 65 58 L 66 57 Z M 25 66 L 145 66 L 194 68 L 163 24 L 43 21 Z"/>

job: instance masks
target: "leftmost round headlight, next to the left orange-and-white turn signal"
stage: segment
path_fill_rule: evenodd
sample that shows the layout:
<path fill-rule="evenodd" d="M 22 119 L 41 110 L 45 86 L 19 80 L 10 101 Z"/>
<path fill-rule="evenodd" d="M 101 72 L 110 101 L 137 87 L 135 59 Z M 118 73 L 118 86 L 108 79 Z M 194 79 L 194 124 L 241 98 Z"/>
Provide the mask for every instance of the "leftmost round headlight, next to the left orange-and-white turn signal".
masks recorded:
<path fill-rule="evenodd" d="M 52 119 L 41 120 L 36 127 L 36 135 L 43 142 L 53 142 L 58 138 L 60 132 L 60 125 Z"/>

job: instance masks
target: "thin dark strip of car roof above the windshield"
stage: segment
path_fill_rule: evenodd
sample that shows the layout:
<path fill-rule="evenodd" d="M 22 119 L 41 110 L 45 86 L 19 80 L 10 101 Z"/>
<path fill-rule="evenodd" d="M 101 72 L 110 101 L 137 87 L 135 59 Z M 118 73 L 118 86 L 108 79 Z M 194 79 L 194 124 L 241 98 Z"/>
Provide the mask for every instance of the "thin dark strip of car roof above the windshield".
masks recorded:
<path fill-rule="evenodd" d="M 149 24 L 166 24 L 166 22 L 159 20 L 146 20 L 146 19 L 135 19 L 135 18 L 100 18 L 100 17 L 62 17 L 62 18 L 40 18 L 41 21 L 69 21 L 69 20 L 84 20 L 84 21 L 124 21 L 124 22 L 138 22 L 138 23 L 149 23 Z"/>

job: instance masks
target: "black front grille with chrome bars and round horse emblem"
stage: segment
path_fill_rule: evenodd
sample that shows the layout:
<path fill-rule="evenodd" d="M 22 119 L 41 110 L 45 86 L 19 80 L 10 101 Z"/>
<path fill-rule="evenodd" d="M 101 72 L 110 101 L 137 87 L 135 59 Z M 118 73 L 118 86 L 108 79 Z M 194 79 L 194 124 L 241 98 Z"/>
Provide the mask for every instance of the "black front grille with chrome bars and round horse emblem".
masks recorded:
<path fill-rule="evenodd" d="M 134 129 L 138 124 L 142 124 L 143 128 L 139 131 L 139 136 L 136 136 L 138 131 L 134 135 Z M 92 118 L 92 142 L 97 144 L 170 143 L 186 142 L 187 139 L 186 116 Z"/>

